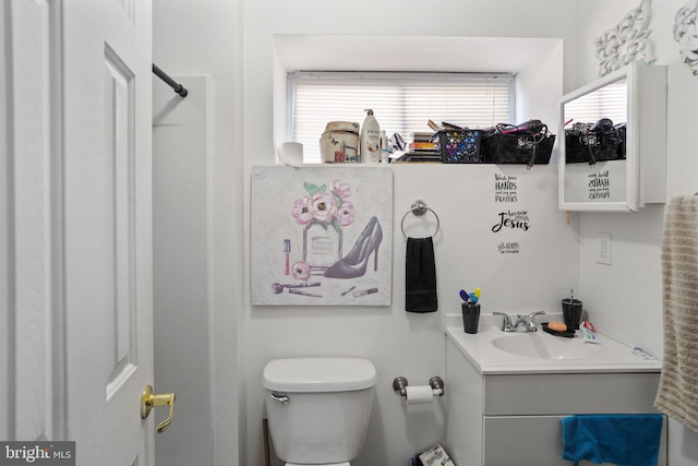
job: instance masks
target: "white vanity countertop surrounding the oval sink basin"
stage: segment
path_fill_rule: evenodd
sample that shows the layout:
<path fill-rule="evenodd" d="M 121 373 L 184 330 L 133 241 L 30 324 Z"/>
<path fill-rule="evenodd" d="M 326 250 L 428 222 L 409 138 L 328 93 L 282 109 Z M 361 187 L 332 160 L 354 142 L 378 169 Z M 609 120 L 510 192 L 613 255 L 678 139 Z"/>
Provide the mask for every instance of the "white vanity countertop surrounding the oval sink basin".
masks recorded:
<path fill-rule="evenodd" d="M 479 332 L 468 334 L 462 328 L 460 315 L 447 315 L 446 335 L 483 374 L 661 372 L 662 369 L 660 360 L 643 359 L 631 353 L 629 346 L 605 335 L 597 333 L 599 344 L 583 343 L 581 331 L 576 332 L 575 339 L 578 338 L 580 345 L 593 346 L 593 351 L 590 351 L 592 355 L 583 359 L 538 359 L 514 355 L 492 344 L 494 338 L 507 334 L 498 326 L 491 325 L 490 319 L 482 318 L 485 316 L 481 316 Z M 541 334 L 543 338 L 562 338 L 550 335 L 540 327 L 537 334 Z"/>

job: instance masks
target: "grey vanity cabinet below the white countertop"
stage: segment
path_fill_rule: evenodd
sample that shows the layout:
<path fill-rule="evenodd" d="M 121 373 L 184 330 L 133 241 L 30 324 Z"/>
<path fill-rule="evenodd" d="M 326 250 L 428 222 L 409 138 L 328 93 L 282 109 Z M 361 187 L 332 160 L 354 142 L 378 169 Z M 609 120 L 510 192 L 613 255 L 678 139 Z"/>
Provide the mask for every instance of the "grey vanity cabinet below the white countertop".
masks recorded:
<path fill-rule="evenodd" d="M 561 418 L 655 414 L 659 372 L 482 374 L 446 338 L 446 441 L 458 466 L 568 466 Z M 666 465 L 666 428 L 660 465 Z M 581 462 L 581 464 L 590 464 Z"/>

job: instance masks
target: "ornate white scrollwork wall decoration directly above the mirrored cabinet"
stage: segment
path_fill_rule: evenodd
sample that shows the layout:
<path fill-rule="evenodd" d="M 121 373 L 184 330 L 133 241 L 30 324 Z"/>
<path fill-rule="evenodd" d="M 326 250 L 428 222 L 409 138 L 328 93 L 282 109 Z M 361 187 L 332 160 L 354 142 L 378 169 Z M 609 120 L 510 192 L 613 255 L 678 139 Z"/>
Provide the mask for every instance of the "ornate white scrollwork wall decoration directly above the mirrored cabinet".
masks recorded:
<path fill-rule="evenodd" d="M 654 45 L 649 39 L 650 0 L 629 11 L 615 27 L 594 39 L 594 51 L 599 59 L 599 76 L 634 61 L 653 63 Z"/>

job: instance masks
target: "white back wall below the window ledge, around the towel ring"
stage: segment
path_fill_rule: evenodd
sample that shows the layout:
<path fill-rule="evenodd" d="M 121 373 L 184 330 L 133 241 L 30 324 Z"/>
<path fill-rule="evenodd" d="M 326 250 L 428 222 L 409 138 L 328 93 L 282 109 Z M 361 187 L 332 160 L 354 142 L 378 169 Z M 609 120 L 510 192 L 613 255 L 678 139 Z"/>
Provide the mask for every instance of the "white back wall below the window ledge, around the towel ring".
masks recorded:
<path fill-rule="evenodd" d="M 302 169 L 302 168 L 301 168 Z M 328 170 L 330 168 L 327 168 Z M 426 384 L 433 375 L 445 378 L 443 316 L 459 313 L 458 290 L 482 287 L 484 313 L 494 310 L 558 311 L 563 288 L 576 280 L 576 235 L 556 210 L 556 166 L 443 166 L 395 165 L 393 228 L 393 303 L 390 307 L 253 307 L 248 331 L 258 339 L 248 360 L 250 442 L 260 442 L 264 417 L 261 386 L 269 359 L 309 355 L 345 355 L 371 359 L 377 368 L 375 404 L 363 454 L 352 464 L 406 464 L 409 457 L 445 441 L 445 406 L 406 407 L 394 393 L 393 380 L 406 377 L 411 384 Z M 334 171 L 336 174 L 336 171 Z M 519 201 L 494 202 L 495 174 L 516 177 Z M 337 178 L 339 175 L 333 175 Z M 437 181 L 436 181 L 437 180 Z M 441 219 L 435 236 L 440 311 L 405 312 L 405 240 L 401 219 L 416 199 L 423 199 Z M 494 234 L 498 213 L 527 210 L 530 230 Z M 433 228 L 434 218 L 429 217 Z M 412 226 L 409 216 L 406 225 Z M 429 227 L 408 229 L 429 236 Z M 498 252 L 502 242 L 518 242 L 518 254 Z M 535 273 L 531 273 L 531 264 Z M 561 264 L 563 265 L 561 267 Z M 253 353 L 253 354 L 252 354 Z M 446 390 L 448 390 L 448 380 Z M 261 389 L 257 390 L 261 392 Z M 256 421 L 255 421 L 256 419 Z M 256 434 L 256 437 L 255 437 Z M 260 444 L 251 449 L 246 464 L 261 459 Z"/>

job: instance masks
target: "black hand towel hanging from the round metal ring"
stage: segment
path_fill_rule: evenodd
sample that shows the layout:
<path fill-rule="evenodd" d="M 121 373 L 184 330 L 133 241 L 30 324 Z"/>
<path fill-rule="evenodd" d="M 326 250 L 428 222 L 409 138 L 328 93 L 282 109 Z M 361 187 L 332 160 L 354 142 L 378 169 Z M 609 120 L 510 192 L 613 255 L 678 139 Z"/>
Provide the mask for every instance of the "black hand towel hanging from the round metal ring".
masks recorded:
<path fill-rule="evenodd" d="M 432 238 L 408 238 L 405 259 L 405 310 L 436 311 L 436 264 Z"/>

